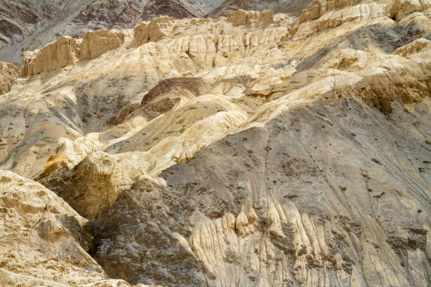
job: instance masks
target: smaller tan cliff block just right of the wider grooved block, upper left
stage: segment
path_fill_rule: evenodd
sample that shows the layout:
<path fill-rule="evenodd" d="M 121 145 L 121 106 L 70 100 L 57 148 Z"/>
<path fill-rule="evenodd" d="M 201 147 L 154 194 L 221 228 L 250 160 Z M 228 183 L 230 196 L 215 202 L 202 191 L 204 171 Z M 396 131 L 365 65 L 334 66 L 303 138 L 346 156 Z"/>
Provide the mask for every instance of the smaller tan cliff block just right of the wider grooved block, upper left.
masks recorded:
<path fill-rule="evenodd" d="M 117 49 L 125 41 L 124 32 L 116 30 L 97 30 L 96 32 L 85 32 L 80 44 L 80 60 L 91 60 Z"/>

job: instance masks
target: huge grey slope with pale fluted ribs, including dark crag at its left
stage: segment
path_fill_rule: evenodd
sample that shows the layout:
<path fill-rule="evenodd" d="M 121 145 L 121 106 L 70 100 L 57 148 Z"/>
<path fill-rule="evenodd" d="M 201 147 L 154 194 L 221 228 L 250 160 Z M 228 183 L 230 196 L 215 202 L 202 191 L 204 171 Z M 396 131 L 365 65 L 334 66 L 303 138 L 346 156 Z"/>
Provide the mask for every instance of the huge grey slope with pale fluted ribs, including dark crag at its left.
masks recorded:
<path fill-rule="evenodd" d="M 420 138 L 395 144 L 392 136 L 409 113 L 396 106 L 397 120 L 391 122 L 379 113 L 354 98 L 323 99 L 228 136 L 171 167 L 162 174 L 168 188 L 137 181 L 108 212 L 96 259 L 112 276 L 144 283 L 158 279 L 165 286 L 187 286 L 172 279 L 189 268 L 192 274 L 204 270 L 205 286 L 265 281 L 307 286 L 311 279 L 316 280 L 311 286 L 322 286 L 321 280 L 340 286 L 426 283 L 429 275 L 419 274 L 430 268 L 429 227 L 421 214 L 427 208 L 413 198 L 425 196 L 427 179 L 420 176 L 424 185 L 411 190 L 396 177 L 416 181 L 417 170 L 389 174 L 404 166 L 413 149 L 418 158 L 428 151 Z M 429 127 L 427 116 L 421 120 Z M 396 151 L 381 153 L 380 141 Z M 363 146 L 373 146 L 375 153 L 361 152 Z M 394 193 L 409 199 L 400 202 Z M 411 208 L 399 216 L 396 210 L 404 205 Z M 185 268 L 180 274 L 175 267 L 165 269 L 165 261 L 152 256 L 154 248 L 161 248 L 163 257 L 184 254 L 174 261 Z M 200 260 L 197 267 L 191 264 L 194 257 Z M 380 263 L 371 264 L 377 258 Z"/>

